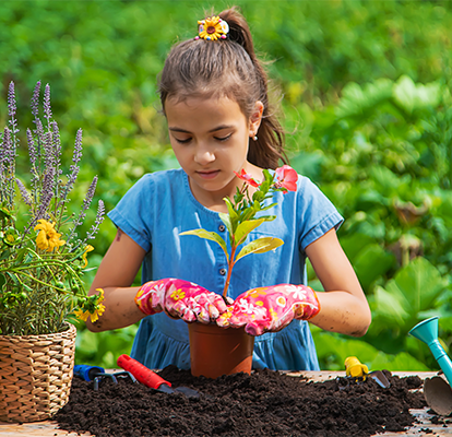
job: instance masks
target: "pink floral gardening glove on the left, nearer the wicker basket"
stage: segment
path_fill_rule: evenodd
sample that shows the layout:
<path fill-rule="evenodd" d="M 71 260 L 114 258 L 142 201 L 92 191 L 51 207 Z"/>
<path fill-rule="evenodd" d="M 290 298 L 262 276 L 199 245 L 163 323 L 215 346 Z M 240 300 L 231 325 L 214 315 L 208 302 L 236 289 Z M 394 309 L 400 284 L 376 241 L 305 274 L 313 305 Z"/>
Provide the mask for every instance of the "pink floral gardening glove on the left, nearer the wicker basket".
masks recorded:
<path fill-rule="evenodd" d="M 227 310 L 222 296 L 193 282 L 167 277 L 141 286 L 135 304 L 145 315 L 165 311 L 187 322 L 209 323 Z"/>

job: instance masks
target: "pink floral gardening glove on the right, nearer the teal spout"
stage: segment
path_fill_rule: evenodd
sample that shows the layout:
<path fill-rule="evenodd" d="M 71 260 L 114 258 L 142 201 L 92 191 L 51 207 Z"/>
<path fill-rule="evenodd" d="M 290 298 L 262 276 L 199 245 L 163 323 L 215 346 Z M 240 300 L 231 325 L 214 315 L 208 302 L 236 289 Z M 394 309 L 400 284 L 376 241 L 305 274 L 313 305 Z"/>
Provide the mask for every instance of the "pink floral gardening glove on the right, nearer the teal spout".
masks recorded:
<path fill-rule="evenodd" d="M 250 335 L 281 331 L 293 319 L 308 320 L 320 311 L 316 292 L 306 285 L 279 284 L 242 293 L 222 314 L 222 328 L 240 328 Z"/>

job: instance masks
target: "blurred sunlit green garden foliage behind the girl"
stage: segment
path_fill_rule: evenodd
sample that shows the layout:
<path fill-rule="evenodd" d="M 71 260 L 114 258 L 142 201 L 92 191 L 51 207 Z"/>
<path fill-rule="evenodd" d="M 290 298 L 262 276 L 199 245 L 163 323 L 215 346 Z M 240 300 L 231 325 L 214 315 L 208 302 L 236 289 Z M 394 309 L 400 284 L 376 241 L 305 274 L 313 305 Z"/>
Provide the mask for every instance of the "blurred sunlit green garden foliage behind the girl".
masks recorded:
<path fill-rule="evenodd" d="M 452 108 L 450 1 L 9 1 L 0 3 L 0 126 L 14 81 L 22 147 L 38 80 L 51 86 L 66 160 L 83 129 L 74 208 L 94 175 L 107 211 L 143 174 L 178 167 L 159 113 L 156 76 L 170 46 L 197 34 L 204 9 L 241 7 L 285 114 L 292 165 L 346 221 L 340 240 L 373 320 L 361 339 L 312 328 L 322 369 L 357 355 L 371 369 L 438 369 L 407 336 L 440 317 L 452 343 Z M 69 164 L 68 164 L 69 165 Z M 25 176 L 24 176 L 25 177 Z M 25 177 L 26 178 L 26 177 Z M 95 199 L 95 200 L 96 200 Z M 86 220 L 88 227 L 95 209 Z M 96 267 L 116 229 L 94 240 Z M 86 284 L 94 275 L 85 275 Z M 312 269 L 310 285 L 321 288 Z M 78 363 L 115 367 L 136 326 L 79 326 Z"/>

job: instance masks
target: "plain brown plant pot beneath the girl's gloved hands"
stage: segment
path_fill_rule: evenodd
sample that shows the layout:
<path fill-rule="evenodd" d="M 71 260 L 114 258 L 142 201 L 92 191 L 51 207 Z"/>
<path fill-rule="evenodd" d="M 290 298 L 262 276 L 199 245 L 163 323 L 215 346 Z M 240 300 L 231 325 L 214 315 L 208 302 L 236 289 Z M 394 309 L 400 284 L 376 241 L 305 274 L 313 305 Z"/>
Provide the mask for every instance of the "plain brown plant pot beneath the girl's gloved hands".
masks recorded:
<path fill-rule="evenodd" d="M 191 374 L 217 378 L 243 371 L 251 374 L 254 338 L 245 328 L 190 323 Z"/>

